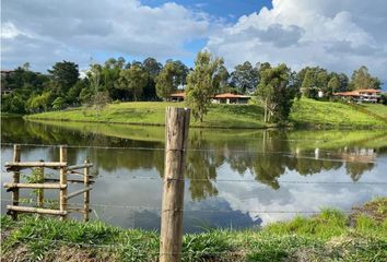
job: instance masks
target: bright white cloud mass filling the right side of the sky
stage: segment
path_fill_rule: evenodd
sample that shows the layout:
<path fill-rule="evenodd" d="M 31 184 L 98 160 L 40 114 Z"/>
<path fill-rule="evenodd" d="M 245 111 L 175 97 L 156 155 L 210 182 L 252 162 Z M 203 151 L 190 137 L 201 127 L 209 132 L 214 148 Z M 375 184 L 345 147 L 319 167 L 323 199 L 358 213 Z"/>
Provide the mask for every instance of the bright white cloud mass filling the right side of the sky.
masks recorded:
<path fill-rule="evenodd" d="M 285 62 L 351 73 L 365 64 L 387 80 L 387 2 L 273 0 L 273 9 L 239 17 L 210 36 L 207 48 L 234 67 Z"/>

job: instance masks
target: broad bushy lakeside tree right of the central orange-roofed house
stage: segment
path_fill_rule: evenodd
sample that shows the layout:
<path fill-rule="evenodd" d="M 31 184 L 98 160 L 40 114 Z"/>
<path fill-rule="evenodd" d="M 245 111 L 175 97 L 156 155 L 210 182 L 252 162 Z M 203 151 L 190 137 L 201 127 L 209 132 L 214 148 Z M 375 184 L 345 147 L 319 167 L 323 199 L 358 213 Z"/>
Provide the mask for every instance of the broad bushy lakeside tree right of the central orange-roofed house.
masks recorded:
<path fill-rule="evenodd" d="M 266 69 L 256 91 L 265 107 L 265 122 L 288 120 L 297 87 L 293 84 L 293 74 L 284 64 Z"/>

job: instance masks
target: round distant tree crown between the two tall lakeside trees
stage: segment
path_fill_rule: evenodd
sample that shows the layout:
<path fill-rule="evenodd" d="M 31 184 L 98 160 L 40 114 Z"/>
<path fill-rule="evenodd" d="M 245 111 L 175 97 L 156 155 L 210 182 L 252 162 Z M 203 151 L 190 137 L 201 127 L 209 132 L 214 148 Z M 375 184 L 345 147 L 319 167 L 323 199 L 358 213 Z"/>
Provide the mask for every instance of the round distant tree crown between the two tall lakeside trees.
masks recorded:
<path fill-rule="evenodd" d="M 236 66 L 231 73 L 231 84 L 236 87 L 239 93 L 254 91 L 258 84 L 258 70 L 253 68 L 249 61 Z"/>

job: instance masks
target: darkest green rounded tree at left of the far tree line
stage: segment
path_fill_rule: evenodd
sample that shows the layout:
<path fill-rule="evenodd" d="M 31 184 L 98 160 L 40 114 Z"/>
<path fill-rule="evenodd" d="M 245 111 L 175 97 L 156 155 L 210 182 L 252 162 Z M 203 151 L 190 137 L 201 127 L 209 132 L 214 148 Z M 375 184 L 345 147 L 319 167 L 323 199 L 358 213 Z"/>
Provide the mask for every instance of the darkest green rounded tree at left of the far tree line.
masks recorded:
<path fill-rule="evenodd" d="M 79 80 L 78 64 L 69 61 L 57 62 L 48 70 L 51 74 L 55 95 L 66 94 Z"/>

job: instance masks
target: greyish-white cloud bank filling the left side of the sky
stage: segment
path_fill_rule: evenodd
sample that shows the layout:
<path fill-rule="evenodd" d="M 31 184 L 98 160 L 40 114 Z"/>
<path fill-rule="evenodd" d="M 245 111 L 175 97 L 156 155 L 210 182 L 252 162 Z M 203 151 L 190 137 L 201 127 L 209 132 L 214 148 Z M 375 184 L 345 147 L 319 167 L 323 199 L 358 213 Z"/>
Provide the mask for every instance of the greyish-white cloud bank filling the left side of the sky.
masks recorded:
<path fill-rule="evenodd" d="M 214 22 L 174 2 L 150 8 L 139 0 L 13 0 L 2 9 L 3 63 L 40 70 L 62 59 L 87 63 L 93 53 L 191 56 L 184 45 L 207 37 Z"/>

